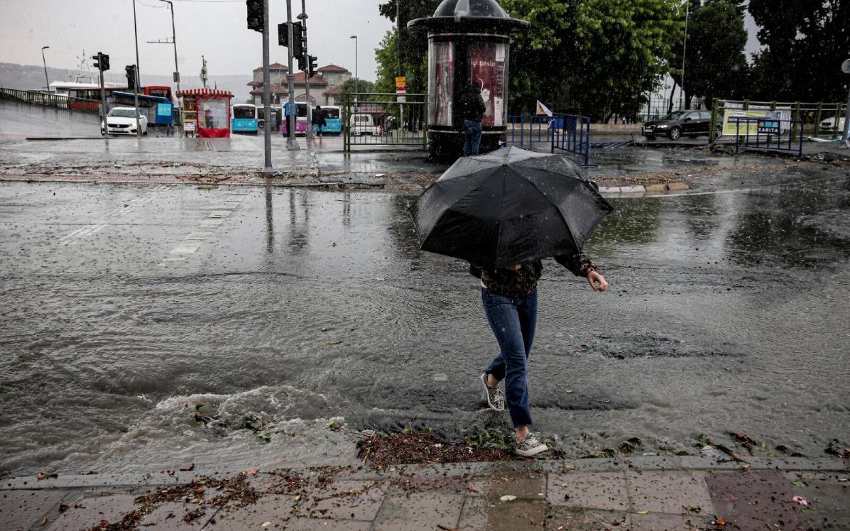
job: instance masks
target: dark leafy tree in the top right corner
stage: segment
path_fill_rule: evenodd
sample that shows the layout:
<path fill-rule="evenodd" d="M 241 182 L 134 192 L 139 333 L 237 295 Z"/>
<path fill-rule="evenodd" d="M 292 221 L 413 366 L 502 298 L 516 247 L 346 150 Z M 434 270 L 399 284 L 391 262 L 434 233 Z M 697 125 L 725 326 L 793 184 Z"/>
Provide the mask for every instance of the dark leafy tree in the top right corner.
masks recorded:
<path fill-rule="evenodd" d="M 850 50 L 850 3 L 842 0 L 751 0 L 762 49 L 754 56 L 754 98 L 843 101 Z"/>

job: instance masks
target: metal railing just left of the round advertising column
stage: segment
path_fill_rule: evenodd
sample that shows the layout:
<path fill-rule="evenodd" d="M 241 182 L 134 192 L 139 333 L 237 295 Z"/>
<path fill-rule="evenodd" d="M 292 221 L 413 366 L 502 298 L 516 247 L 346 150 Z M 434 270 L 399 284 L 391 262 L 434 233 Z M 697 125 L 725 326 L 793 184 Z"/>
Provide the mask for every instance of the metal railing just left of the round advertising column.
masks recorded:
<path fill-rule="evenodd" d="M 428 149 L 428 95 L 352 93 L 343 99 L 343 150 L 353 145 Z"/>

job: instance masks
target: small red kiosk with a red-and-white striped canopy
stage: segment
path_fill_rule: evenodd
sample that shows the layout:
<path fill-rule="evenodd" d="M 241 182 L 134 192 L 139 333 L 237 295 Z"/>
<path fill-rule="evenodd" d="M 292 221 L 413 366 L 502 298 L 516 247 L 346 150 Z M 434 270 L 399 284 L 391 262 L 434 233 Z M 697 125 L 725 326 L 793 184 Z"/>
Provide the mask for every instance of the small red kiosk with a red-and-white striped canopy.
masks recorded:
<path fill-rule="evenodd" d="M 179 90 L 183 98 L 184 132 L 200 138 L 230 138 L 230 99 L 233 93 L 212 88 Z"/>

